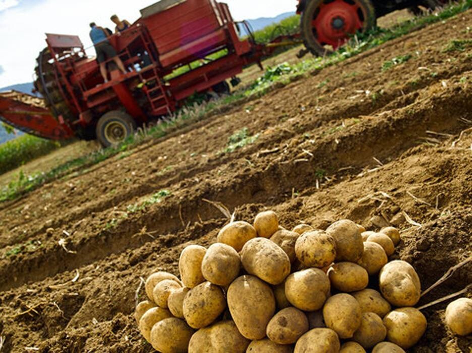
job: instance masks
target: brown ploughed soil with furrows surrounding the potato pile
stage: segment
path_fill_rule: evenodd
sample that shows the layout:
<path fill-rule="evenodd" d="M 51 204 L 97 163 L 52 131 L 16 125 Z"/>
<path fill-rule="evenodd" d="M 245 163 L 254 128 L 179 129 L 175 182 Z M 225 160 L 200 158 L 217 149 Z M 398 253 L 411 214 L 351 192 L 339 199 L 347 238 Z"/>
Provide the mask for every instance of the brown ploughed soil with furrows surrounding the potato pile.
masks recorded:
<path fill-rule="evenodd" d="M 429 287 L 472 250 L 472 49 L 444 51 L 471 39 L 471 25 L 472 12 L 432 25 L 0 204 L 4 351 L 152 351 L 132 316 L 140 277 L 177 274 L 186 244 L 215 240 L 227 220 L 203 199 L 237 220 L 271 208 L 287 228 L 393 224 L 403 237 L 394 258 Z M 219 153 L 244 127 L 258 139 Z M 160 190 L 170 195 L 136 207 Z M 471 281 L 469 264 L 420 304 Z M 428 330 L 411 351 L 470 351 L 444 310 L 424 311 Z"/>

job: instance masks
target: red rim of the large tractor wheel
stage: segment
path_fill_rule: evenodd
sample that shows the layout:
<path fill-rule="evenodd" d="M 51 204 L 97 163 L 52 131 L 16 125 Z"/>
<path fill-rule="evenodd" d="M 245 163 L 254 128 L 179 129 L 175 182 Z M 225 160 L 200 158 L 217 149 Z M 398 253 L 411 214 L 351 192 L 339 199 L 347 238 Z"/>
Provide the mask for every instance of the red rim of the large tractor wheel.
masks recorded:
<path fill-rule="evenodd" d="M 349 34 L 364 29 L 366 15 L 356 0 L 332 0 L 320 4 L 313 16 L 313 33 L 321 45 L 333 49 L 344 44 Z"/>

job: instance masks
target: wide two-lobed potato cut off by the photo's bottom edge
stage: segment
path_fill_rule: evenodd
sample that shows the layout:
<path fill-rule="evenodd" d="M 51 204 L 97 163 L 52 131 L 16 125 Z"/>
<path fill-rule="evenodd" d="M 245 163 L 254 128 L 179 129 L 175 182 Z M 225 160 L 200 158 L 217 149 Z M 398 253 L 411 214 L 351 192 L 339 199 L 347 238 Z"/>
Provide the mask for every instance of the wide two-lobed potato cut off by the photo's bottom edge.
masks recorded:
<path fill-rule="evenodd" d="M 244 353 L 249 343 L 233 321 L 220 321 L 194 333 L 189 342 L 189 353 Z"/>

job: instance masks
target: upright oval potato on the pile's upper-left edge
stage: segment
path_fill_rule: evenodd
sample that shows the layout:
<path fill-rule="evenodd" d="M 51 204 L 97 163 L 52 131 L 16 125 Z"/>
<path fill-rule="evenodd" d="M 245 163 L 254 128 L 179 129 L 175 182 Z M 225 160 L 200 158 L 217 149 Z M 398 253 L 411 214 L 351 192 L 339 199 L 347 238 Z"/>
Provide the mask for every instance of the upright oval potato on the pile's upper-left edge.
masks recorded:
<path fill-rule="evenodd" d="M 186 247 L 179 259 L 179 272 L 182 283 L 188 288 L 193 288 L 205 282 L 202 274 L 202 261 L 206 248 L 200 245 L 189 245 Z"/>

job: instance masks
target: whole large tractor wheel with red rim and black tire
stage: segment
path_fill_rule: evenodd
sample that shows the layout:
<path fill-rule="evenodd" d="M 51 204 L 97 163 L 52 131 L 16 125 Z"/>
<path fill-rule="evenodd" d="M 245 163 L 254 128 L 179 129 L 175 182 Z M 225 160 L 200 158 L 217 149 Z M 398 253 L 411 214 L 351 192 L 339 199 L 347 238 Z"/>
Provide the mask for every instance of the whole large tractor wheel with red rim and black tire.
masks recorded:
<path fill-rule="evenodd" d="M 371 0 L 310 0 L 302 13 L 301 32 L 307 49 L 325 55 L 344 44 L 357 31 L 375 26 L 375 9 Z"/>

